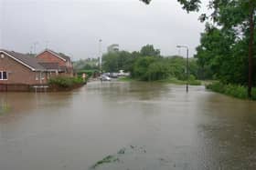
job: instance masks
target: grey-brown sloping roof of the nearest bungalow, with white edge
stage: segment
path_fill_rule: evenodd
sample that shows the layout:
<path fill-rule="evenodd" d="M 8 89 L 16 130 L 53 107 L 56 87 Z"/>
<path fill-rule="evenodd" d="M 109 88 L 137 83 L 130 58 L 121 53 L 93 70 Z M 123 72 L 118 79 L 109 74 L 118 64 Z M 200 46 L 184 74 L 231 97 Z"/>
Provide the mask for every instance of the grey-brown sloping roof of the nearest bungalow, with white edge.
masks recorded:
<path fill-rule="evenodd" d="M 46 70 L 46 68 L 43 65 L 38 64 L 37 58 L 35 58 L 33 56 L 17 53 L 14 51 L 7 51 L 4 49 L 0 49 L 0 53 L 4 53 L 5 55 L 8 55 L 9 57 L 16 60 L 16 62 L 27 66 L 32 71 L 45 71 Z"/>

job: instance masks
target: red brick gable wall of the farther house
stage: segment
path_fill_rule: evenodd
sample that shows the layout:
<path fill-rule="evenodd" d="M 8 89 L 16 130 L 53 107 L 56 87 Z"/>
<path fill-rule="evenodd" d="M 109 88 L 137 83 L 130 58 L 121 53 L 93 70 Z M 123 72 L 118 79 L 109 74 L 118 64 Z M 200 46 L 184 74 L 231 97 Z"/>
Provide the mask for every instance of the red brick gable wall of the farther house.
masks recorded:
<path fill-rule="evenodd" d="M 37 55 L 37 58 L 39 59 L 40 62 L 44 62 L 44 63 L 59 63 L 59 65 L 61 66 L 66 65 L 64 60 L 60 59 L 56 55 L 52 55 L 48 51 L 45 51 L 44 53 Z"/>

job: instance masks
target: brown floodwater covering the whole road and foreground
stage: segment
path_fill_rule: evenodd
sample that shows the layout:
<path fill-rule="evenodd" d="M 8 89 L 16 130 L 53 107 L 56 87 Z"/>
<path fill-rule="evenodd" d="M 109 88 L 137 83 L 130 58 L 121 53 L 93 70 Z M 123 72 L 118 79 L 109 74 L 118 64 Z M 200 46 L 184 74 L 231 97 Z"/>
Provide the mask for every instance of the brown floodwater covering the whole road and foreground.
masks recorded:
<path fill-rule="evenodd" d="M 92 82 L 1 93 L 0 169 L 256 169 L 256 103 L 189 90 Z"/>

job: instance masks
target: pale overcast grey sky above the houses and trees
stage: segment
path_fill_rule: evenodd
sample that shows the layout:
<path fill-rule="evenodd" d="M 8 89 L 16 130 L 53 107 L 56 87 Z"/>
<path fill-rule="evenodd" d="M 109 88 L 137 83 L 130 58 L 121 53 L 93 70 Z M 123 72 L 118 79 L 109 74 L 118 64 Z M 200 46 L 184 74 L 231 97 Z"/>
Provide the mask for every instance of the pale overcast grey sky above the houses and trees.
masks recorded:
<path fill-rule="evenodd" d="M 162 55 L 177 55 L 176 45 L 188 45 L 192 55 L 204 30 L 198 15 L 176 0 L 0 0 L 0 45 L 28 53 L 37 42 L 37 52 L 48 44 L 79 59 L 97 57 L 102 39 L 103 51 L 111 44 L 128 51 L 152 44 Z"/>

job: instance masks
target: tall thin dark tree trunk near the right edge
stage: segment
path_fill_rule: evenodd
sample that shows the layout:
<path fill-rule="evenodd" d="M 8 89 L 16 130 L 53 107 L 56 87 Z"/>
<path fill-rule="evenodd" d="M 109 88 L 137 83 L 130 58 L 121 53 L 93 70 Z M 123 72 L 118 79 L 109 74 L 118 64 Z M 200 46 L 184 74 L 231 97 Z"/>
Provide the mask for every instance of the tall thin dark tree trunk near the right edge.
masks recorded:
<path fill-rule="evenodd" d="M 252 5 L 251 1 L 251 5 Z M 250 12 L 250 42 L 249 42 L 249 75 L 248 75 L 248 97 L 251 98 L 252 72 L 253 72 L 253 43 L 254 43 L 254 6 L 251 6 Z"/>

